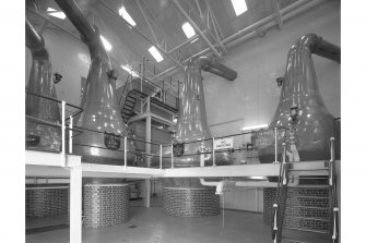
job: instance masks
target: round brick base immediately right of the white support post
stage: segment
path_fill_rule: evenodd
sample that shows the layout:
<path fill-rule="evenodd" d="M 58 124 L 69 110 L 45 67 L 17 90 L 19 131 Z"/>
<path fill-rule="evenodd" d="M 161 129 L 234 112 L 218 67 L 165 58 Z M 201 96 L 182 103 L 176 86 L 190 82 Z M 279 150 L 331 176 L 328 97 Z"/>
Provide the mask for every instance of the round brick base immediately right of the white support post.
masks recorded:
<path fill-rule="evenodd" d="M 115 226 L 129 219 L 128 184 L 85 184 L 85 227 L 99 228 Z"/>

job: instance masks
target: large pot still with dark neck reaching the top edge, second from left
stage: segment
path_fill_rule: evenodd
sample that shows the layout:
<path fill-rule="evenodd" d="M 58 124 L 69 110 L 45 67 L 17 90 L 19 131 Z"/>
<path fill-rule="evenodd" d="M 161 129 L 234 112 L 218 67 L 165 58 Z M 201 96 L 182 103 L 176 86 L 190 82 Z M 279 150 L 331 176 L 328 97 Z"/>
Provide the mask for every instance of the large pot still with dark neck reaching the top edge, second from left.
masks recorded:
<path fill-rule="evenodd" d="M 83 133 L 73 139 L 73 154 L 81 155 L 83 162 L 125 165 L 125 141 L 128 135 L 118 109 L 116 80 L 118 74 L 111 69 L 110 60 L 96 26 L 92 26 L 73 0 L 56 0 L 71 23 L 80 32 L 82 40 L 91 53 L 85 93 L 81 101 L 83 112 L 75 117 L 74 124 Z M 128 151 L 134 151 L 131 141 Z M 134 154 L 127 154 L 128 165 L 134 161 Z"/>

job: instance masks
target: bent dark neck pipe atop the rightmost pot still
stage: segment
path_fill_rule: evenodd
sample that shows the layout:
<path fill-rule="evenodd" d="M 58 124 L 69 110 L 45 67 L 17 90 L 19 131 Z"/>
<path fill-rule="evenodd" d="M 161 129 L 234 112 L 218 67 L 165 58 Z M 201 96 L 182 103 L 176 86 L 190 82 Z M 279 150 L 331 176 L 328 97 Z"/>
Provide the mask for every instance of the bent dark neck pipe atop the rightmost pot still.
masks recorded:
<path fill-rule="evenodd" d="M 311 53 L 341 63 L 341 48 L 323 40 L 316 34 L 308 34 L 300 37 L 298 46 L 308 46 Z"/>

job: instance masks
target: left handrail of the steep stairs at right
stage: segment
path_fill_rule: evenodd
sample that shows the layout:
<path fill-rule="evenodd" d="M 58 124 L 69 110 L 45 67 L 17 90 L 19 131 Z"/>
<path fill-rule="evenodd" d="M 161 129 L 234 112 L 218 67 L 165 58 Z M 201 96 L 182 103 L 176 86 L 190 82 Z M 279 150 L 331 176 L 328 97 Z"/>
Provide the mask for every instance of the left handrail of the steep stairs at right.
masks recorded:
<path fill-rule="evenodd" d="M 286 162 L 286 144 L 283 143 L 283 151 L 282 151 L 282 161 L 280 166 L 279 180 L 278 180 L 278 189 L 275 193 L 275 198 L 273 202 L 273 220 L 271 223 L 271 232 L 273 243 L 280 243 L 282 240 L 282 226 L 284 220 L 284 210 L 285 210 L 285 197 L 286 190 L 288 183 L 288 165 Z"/>

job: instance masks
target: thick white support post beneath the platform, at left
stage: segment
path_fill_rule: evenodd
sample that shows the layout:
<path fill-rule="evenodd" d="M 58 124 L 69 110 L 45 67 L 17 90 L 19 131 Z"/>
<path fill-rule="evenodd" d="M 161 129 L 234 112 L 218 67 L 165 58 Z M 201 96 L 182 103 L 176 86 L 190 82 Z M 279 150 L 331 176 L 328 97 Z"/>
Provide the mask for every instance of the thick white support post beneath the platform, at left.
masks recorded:
<path fill-rule="evenodd" d="M 82 242 L 82 168 L 70 168 L 70 243 Z"/>

